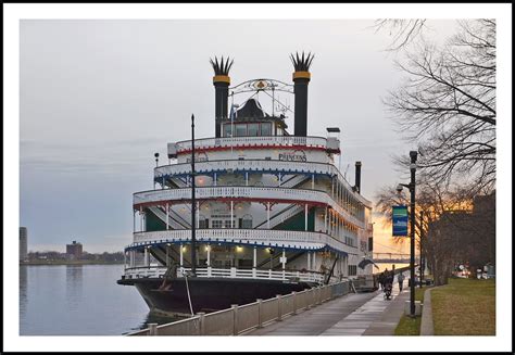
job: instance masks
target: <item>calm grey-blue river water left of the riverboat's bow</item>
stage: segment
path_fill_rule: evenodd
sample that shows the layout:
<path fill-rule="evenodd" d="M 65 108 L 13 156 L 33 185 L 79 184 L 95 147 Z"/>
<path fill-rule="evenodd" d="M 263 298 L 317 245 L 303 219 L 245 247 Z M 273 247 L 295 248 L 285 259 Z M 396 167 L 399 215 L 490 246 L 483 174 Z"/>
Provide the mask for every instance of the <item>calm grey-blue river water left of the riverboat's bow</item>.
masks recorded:
<path fill-rule="evenodd" d="M 136 288 L 116 283 L 123 265 L 20 266 L 21 335 L 122 335 L 148 322 Z"/>

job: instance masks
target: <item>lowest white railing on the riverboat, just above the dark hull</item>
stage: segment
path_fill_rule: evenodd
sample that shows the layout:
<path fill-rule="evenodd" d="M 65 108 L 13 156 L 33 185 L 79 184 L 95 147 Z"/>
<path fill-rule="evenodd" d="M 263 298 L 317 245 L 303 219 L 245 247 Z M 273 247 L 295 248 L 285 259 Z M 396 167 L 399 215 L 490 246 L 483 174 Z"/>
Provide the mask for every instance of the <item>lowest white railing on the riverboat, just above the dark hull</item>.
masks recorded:
<path fill-rule="evenodd" d="M 166 266 L 139 266 L 125 269 L 126 279 L 140 278 L 162 278 L 166 272 Z M 190 271 L 191 268 L 178 268 L 177 277 L 184 277 L 184 272 Z M 277 281 L 304 281 L 317 282 L 324 281 L 324 275 L 319 272 L 301 272 L 291 270 L 271 270 L 271 269 L 239 269 L 231 268 L 214 268 L 202 267 L 196 269 L 197 277 L 201 278 L 231 278 L 231 279 L 267 279 Z"/>

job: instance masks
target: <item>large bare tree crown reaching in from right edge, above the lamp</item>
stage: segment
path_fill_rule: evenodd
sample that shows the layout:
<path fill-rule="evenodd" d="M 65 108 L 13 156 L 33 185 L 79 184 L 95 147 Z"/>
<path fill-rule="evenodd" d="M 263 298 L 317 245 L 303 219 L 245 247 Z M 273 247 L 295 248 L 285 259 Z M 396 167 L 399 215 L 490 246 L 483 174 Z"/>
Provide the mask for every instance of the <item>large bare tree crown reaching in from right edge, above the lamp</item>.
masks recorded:
<path fill-rule="evenodd" d="M 460 22 L 442 49 L 422 41 L 397 62 L 405 83 L 384 101 L 399 131 L 424 155 L 417 165 L 435 183 L 495 185 L 495 22 Z M 405 159 L 397 159 L 402 166 Z"/>

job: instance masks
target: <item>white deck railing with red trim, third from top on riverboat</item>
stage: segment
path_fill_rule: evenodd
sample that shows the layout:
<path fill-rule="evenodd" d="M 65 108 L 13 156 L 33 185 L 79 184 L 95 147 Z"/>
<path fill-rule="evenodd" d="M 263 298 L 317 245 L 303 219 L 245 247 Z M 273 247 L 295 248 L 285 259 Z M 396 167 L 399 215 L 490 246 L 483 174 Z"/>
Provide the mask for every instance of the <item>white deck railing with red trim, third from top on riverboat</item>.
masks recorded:
<path fill-rule="evenodd" d="M 349 223 L 360 228 L 365 228 L 363 221 L 352 216 L 325 191 L 271 187 L 202 187 L 196 188 L 194 193 L 198 200 L 238 198 L 266 201 L 274 199 L 276 201 L 282 200 L 284 203 L 300 202 L 329 205 Z M 167 201 L 188 201 L 190 199 L 191 188 L 163 189 L 136 192 L 133 196 L 133 202 L 134 205 L 164 204 Z"/>

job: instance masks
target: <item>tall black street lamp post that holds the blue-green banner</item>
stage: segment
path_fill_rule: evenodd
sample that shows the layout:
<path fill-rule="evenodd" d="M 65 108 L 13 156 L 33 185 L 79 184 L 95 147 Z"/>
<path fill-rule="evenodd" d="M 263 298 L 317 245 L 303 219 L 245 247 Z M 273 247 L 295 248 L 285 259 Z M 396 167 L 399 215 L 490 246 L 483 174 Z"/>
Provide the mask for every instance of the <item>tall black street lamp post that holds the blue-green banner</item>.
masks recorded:
<path fill-rule="evenodd" d="M 397 190 L 399 193 L 402 187 L 410 190 L 410 316 L 415 317 L 415 172 L 416 172 L 416 151 L 410 151 L 410 173 L 411 181 L 409 185 L 399 183 Z M 422 280 L 420 280 L 422 281 Z"/>

